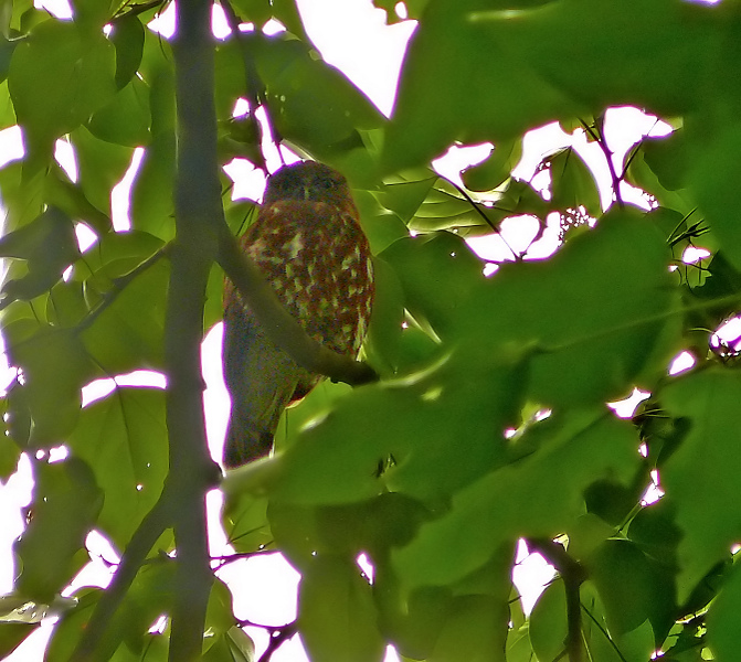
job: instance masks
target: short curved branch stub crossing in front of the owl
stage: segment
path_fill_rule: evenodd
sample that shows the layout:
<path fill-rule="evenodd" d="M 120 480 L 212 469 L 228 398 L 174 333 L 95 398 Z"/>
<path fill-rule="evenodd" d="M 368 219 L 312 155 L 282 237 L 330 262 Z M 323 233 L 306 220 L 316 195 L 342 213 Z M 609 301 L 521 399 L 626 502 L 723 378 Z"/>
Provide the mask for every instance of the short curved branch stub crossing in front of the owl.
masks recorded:
<path fill-rule="evenodd" d="M 255 264 L 244 255 L 224 223 L 219 233 L 218 261 L 255 313 L 267 337 L 301 367 L 351 386 L 375 382 L 375 371 L 364 362 L 332 352 L 309 337 L 285 309 Z"/>

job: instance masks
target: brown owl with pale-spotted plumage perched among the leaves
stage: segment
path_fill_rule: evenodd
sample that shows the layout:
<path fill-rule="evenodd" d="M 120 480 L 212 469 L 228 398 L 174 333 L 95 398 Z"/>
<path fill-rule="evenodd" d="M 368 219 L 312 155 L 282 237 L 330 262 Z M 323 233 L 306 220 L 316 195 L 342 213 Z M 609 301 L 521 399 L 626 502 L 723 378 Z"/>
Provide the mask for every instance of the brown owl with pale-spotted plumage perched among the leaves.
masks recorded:
<path fill-rule="evenodd" d="M 314 161 L 276 171 L 241 246 L 311 338 L 358 355 L 373 301 L 373 267 L 339 172 Z M 265 335 L 229 279 L 222 360 L 232 401 L 223 462 L 235 468 L 271 452 L 283 410 L 322 376 L 300 367 Z"/>

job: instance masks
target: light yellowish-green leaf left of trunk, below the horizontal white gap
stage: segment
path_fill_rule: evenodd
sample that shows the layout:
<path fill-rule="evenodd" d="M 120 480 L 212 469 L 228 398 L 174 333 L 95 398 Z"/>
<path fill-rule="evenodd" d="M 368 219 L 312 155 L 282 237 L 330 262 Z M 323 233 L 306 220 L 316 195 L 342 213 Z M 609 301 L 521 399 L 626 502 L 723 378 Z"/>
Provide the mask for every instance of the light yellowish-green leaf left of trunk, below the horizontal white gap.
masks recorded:
<path fill-rule="evenodd" d="M 155 505 L 168 471 L 165 393 L 116 388 L 85 407 L 67 440 L 105 494 L 99 526 L 123 549 Z"/>

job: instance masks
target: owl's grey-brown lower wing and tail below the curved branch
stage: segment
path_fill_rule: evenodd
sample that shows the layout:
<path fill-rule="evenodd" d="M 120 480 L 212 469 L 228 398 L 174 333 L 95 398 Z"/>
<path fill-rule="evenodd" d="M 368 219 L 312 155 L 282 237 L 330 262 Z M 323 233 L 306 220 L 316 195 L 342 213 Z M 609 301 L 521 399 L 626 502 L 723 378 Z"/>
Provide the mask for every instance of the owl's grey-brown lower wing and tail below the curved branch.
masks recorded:
<path fill-rule="evenodd" d="M 269 453 L 283 409 L 310 375 L 265 337 L 236 297 L 224 316 L 222 359 L 232 399 L 223 459 L 233 468 Z"/>

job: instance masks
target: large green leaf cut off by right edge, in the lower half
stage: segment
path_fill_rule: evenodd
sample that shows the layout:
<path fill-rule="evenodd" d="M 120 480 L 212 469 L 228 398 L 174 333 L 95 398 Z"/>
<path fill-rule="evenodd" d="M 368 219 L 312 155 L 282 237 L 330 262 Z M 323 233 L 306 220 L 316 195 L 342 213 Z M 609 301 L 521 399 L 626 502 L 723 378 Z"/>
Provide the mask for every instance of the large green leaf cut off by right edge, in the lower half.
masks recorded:
<path fill-rule="evenodd" d="M 679 601 L 741 535 L 735 509 L 735 477 L 741 471 L 733 413 L 741 397 L 734 371 L 716 367 L 674 378 L 661 391 L 661 403 L 690 427 L 661 470 L 661 483 L 676 505 L 682 530 L 677 578 Z M 712 485 L 712 489 L 710 489 Z"/>

